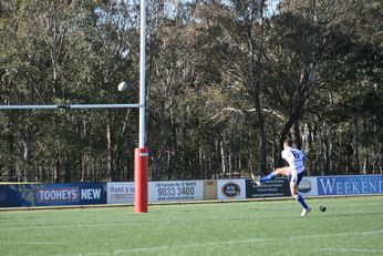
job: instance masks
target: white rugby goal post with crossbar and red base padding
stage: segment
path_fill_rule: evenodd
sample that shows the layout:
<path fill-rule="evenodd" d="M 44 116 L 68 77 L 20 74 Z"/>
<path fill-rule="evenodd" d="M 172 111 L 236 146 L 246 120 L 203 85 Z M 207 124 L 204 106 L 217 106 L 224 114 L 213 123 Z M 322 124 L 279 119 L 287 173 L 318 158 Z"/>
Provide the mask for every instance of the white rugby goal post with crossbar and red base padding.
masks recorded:
<path fill-rule="evenodd" d="M 147 213 L 148 205 L 148 150 L 146 140 L 146 93 L 145 93 L 145 48 L 146 48 L 146 1 L 141 0 L 141 40 L 139 40 L 139 103 L 138 104 L 58 104 L 58 105 L 0 105 L 6 110 L 85 110 L 85 109 L 139 109 L 138 147 L 134 150 L 134 209 Z"/>

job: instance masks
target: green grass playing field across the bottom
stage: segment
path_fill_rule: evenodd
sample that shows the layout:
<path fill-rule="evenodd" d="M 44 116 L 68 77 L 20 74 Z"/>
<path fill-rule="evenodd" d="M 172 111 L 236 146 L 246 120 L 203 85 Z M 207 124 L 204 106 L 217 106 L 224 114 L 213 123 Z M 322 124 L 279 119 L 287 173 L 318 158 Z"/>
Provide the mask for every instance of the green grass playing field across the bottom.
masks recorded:
<path fill-rule="evenodd" d="M 308 203 L 0 212 L 0 255 L 383 255 L 383 197 Z"/>

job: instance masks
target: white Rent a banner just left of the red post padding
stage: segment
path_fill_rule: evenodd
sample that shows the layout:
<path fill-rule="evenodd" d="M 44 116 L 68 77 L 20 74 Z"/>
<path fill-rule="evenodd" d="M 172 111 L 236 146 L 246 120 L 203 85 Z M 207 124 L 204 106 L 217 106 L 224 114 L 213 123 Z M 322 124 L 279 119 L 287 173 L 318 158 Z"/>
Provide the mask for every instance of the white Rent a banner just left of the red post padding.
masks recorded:
<path fill-rule="evenodd" d="M 134 202 L 134 183 L 107 183 L 107 204 L 132 204 Z"/>

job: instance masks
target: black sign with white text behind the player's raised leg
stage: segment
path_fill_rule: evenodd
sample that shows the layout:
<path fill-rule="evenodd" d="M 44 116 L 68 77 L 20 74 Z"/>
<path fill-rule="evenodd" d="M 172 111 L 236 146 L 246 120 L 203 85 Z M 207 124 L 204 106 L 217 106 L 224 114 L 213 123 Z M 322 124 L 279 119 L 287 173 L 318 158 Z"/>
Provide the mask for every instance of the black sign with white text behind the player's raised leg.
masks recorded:
<path fill-rule="evenodd" d="M 286 177 L 277 177 L 257 186 L 252 180 L 246 180 L 246 198 L 290 196 L 289 182 Z"/>

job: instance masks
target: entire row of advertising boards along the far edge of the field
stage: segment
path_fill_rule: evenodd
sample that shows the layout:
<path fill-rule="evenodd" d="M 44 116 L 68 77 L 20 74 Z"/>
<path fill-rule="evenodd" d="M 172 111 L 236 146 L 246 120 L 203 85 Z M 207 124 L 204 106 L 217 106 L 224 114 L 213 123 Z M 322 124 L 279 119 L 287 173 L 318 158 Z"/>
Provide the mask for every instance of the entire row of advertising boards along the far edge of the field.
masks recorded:
<path fill-rule="evenodd" d="M 306 176 L 303 196 L 383 194 L 383 175 Z M 250 178 L 148 183 L 148 203 L 290 196 L 277 177 L 257 186 Z M 134 183 L 0 184 L 0 207 L 133 204 Z"/>

